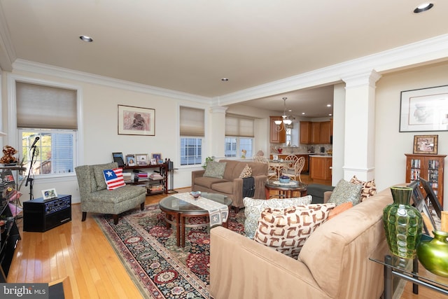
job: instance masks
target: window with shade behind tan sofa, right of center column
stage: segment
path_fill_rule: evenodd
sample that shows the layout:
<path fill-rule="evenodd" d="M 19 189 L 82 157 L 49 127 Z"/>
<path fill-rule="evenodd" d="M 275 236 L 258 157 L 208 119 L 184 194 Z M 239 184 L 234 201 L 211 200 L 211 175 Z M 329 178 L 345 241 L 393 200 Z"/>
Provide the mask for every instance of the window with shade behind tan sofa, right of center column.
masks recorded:
<path fill-rule="evenodd" d="M 225 157 L 253 156 L 253 119 L 225 116 Z"/>

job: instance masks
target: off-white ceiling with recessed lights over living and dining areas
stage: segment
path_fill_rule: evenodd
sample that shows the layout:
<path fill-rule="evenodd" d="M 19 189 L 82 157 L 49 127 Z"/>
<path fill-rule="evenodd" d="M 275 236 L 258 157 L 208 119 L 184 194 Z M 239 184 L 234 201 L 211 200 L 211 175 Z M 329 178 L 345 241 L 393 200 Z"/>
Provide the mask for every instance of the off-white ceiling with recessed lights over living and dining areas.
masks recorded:
<path fill-rule="evenodd" d="M 0 0 L 0 67 L 27 60 L 213 99 L 447 34 L 448 1 L 434 3 L 416 15 L 421 0 Z M 294 114 L 326 116 L 332 88 L 244 104 L 283 111 L 283 96 Z"/>

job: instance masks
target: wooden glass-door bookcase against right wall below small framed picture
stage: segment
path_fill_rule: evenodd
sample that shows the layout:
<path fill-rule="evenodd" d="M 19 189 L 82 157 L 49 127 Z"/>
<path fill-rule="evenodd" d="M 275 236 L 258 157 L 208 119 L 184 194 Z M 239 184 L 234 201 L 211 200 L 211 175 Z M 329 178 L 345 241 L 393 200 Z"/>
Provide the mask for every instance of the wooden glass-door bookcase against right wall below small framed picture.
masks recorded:
<path fill-rule="evenodd" d="M 406 181 L 416 181 L 420 178 L 428 181 L 433 187 L 437 199 L 443 207 L 443 169 L 447 155 L 421 155 L 405 153 Z M 421 189 L 423 195 L 426 193 Z"/>

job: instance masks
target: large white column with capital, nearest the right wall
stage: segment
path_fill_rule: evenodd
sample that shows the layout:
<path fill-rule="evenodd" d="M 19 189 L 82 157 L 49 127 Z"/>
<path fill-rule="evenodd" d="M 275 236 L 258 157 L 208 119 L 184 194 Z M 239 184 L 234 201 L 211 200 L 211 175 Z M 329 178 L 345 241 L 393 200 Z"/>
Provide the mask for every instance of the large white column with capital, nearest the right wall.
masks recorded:
<path fill-rule="evenodd" d="M 374 179 L 375 83 L 381 78 L 367 71 L 342 78 L 345 91 L 344 179 Z"/>

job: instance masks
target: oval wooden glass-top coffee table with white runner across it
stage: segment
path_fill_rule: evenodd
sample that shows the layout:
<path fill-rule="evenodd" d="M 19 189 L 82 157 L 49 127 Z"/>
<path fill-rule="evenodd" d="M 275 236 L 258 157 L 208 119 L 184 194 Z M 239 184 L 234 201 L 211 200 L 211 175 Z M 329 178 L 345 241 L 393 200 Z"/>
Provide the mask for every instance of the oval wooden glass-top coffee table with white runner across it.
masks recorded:
<path fill-rule="evenodd" d="M 179 193 L 182 195 L 182 193 Z M 230 216 L 230 206 L 232 200 L 221 194 L 217 193 L 202 193 L 201 197 L 208 200 L 224 204 L 228 207 Z M 193 197 L 191 197 L 193 198 Z M 179 199 L 176 195 L 171 195 L 160 200 L 159 207 L 165 212 L 165 223 L 167 228 L 171 228 L 171 225 L 176 226 L 176 244 L 177 246 L 185 246 L 185 228 L 198 228 L 209 225 L 209 222 L 204 224 L 186 224 L 186 218 L 188 217 L 207 217 L 209 218 L 209 211 L 195 206 L 190 202 Z M 223 227 L 228 228 L 228 221 L 223 222 Z"/>

